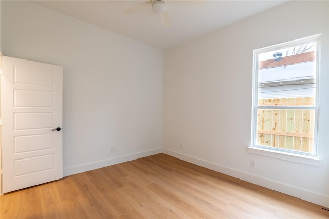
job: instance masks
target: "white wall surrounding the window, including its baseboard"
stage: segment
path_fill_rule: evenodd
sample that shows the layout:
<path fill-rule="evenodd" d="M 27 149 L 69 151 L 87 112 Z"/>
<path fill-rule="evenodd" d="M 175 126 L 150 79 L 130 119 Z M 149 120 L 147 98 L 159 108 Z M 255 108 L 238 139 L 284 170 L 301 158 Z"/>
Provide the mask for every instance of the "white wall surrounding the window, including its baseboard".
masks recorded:
<path fill-rule="evenodd" d="M 328 27 L 329 2 L 292 1 L 165 51 L 163 151 L 328 207 Z M 319 33 L 322 166 L 248 153 L 253 50 Z"/>

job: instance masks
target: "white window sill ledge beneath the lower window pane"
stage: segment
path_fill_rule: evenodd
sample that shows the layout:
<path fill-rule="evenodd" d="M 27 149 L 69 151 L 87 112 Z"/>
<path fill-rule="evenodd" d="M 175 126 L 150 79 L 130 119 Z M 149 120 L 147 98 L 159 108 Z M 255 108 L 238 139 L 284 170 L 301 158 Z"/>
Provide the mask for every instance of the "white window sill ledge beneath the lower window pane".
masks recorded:
<path fill-rule="evenodd" d="M 248 147 L 248 153 L 268 156 L 284 161 L 291 161 L 300 164 L 307 164 L 311 166 L 321 167 L 321 159 L 318 157 L 304 156 L 300 154 L 291 154 L 282 151 L 273 151 L 273 150 L 257 148 L 257 147 Z"/>

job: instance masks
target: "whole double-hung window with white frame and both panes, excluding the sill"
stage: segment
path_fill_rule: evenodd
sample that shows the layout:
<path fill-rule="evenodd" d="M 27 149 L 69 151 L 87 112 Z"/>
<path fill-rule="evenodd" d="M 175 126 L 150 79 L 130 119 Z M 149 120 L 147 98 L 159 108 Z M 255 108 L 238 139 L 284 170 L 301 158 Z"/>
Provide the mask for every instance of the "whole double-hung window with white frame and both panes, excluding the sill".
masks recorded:
<path fill-rule="evenodd" d="M 254 50 L 252 147 L 316 156 L 319 38 Z"/>

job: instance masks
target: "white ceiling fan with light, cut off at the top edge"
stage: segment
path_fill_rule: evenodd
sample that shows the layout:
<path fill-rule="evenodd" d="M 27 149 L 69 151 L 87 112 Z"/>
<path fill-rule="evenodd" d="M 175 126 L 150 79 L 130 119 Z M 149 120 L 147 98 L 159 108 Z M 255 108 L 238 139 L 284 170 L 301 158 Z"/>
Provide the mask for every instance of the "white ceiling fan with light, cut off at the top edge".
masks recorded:
<path fill-rule="evenodd" d="M 147 2 L 140 3 L 138 5 L 135 5 L 131 8 L 123 10 L 123 13 L 126 15 L 135 13 L 139 10 L 142 10 L 143 8 L 152 6 L 152 10 L 155 13 L 161 14 L 163 24 L 165 27 L 170 26 L 170 17 L 168 14 L 168 4 L 188 4 L 188 5 L 203 5 L 204 0 L 184 0 L 184 1 L 177 1 L 177 0 L 149 0 Z"/>

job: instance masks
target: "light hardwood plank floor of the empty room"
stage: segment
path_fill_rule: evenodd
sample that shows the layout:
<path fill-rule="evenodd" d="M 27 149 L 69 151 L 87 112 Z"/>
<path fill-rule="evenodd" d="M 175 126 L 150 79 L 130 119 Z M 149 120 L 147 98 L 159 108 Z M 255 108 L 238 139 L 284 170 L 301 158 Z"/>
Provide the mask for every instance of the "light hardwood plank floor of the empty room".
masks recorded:
<path fill-rule="evenodd" d="M 2 195 L 0 218 L 329 218 L 329 211 L 157 154 Z"/>

